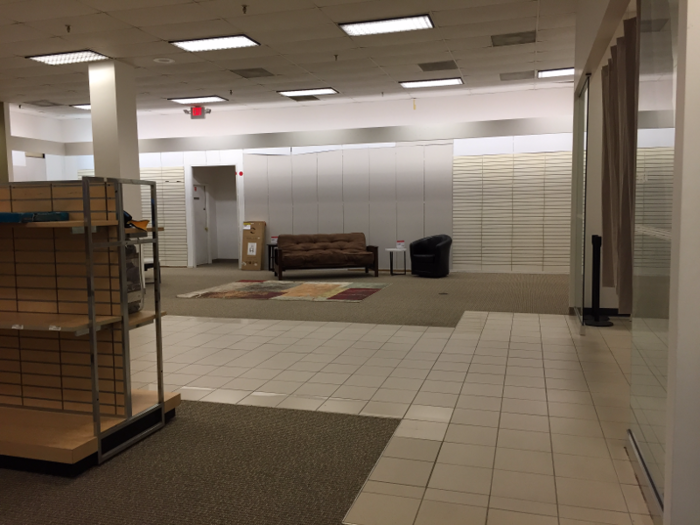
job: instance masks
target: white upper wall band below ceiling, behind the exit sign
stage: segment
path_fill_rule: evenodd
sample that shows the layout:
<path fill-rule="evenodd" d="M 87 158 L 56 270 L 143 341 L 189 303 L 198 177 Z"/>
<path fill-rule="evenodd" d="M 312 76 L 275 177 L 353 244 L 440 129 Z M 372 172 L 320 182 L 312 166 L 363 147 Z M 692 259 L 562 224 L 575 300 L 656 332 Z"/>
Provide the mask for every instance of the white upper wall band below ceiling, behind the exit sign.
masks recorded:
<path fill-rule="evenodd" d="M 220 137 L 260 133 L 366 129 L 387 126 L 449 126 L 528 118 L 560 118 L 572 115 L 573 89 L 557 88 L 506 91 L 501 93 L 436 96 L 414 101 L 384 100 L 355 103 L 319 103 L 249 109 L 211 105 L 206 120 L 190 120 L 173 105 L 172 111 L 140 112 L 139 139 L 174 137 Z M 92 141 L 88 115 L 52 118 L 37 115 L 26 107 L 10 107 L 12 134 L 46 141 L 81 143 Z"/>

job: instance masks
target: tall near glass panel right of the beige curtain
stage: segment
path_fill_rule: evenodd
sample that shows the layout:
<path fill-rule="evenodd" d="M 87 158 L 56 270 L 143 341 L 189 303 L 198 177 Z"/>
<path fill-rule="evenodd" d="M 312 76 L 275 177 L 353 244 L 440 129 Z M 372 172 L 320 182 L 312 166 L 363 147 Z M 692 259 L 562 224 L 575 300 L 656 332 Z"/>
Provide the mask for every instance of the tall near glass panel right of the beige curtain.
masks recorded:
<path fill-rule="evenodd" d="M 630 455 L 656 521 L 663 511 L 677 4 L 640 2 Z M 634 454 L 633 454 L 634 453 Z M 644 487 L 644 485 L 646 485 Z"/>

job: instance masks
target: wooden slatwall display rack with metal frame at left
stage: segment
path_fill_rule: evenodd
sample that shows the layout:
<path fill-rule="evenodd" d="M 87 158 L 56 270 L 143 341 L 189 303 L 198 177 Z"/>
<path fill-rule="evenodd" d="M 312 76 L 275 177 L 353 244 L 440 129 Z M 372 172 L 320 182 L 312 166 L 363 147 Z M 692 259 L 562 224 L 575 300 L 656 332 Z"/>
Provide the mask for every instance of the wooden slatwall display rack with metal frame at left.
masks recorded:
<path fill-rule="evenodd" d="M 128 186 L 150 192 L 146 232 L 125 228 Z M 0 185 L 0 212 L 69 213 L 0 225 L 0 466 L 102 463 L 163 428 L 179 405 L 163 385 L 157 209 L 152 181 Z M 152 312 L 129 314 L 130 245 L 152 246 Z M 151 323 L 157 391 L 131 381 L 129 331 Z"/>

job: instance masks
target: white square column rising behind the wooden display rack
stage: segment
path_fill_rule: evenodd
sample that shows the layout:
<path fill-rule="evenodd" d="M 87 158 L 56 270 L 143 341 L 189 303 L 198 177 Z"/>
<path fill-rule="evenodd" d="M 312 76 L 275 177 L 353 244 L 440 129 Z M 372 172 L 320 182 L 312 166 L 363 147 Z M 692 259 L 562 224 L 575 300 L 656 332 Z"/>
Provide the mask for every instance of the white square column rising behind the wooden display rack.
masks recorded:
<path fill-rule="evenodd" d="M 90 64 L 90 104 L 95 175 L 140 178 L 133 68 L 115 61 Z M 138 187 L 125 188 L 124 209 L 140 215 Z"/>

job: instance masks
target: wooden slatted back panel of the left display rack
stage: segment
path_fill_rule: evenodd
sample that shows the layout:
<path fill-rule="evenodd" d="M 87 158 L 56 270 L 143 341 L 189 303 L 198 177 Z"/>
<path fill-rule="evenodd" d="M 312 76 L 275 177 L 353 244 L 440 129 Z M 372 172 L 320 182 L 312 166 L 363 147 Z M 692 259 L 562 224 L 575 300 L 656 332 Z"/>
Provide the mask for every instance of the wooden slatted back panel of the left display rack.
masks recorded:
<path fill-rule="evenodd" d="M 82 183 L 10 184 L 0 187 L 0 209 L 70 211 L 82 220 Z M 115 188 L 94 182 L 93 218 L 116 220 Z M 94 242 L 117 240 L 117 227 L 100 227 Z M 87 316 L 85 240 L 71 228 L 0 227 L 0 318 L 21 314 Z M 98 316 L 120 315 L 119 256 L 116 248 L 94 253 Z M 51 318 L 51 317 L 50 317 Z M 102 413 L 123 415 L 122 334 L 98 333 Z M 0 404 L 50 410 L 92 410 L 90 342 L 52 327 L 50 331 L 0 330 Z"/>

